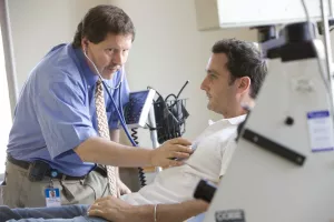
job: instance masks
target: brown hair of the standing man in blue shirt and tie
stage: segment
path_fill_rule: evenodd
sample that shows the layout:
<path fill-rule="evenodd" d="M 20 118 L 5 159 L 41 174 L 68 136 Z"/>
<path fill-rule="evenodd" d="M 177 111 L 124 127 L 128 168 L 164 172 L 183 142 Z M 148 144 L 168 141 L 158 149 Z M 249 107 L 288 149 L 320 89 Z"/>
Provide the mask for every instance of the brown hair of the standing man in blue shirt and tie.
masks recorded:
<path fill-rule="evenodd" d="M 104 41 L 108 33 L 131 34 L 135 40 L 135 26 L 129 16 L 118 7 L 100 4 L 91 8 L 78 24 L 72 46 L 81 47 L 81 40 L 86 37 L 92 43 Z"/>

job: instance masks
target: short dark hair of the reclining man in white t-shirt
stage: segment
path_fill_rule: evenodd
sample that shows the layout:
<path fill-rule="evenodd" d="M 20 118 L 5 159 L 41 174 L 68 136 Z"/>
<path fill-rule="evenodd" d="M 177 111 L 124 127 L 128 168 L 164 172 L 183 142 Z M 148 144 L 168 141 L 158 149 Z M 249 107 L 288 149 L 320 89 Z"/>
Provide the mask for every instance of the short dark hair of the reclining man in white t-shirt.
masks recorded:
<path fill-rule="evenodd" d="M 249 95 L 255 99 L 267 73 L 267 64 L 258 48 L 253 42 L 224 39 L 214 44 L 212 52 L 227 56 L 226 68 L 230 73 L 230 84 L 242 77 L 250 79 Z"/>

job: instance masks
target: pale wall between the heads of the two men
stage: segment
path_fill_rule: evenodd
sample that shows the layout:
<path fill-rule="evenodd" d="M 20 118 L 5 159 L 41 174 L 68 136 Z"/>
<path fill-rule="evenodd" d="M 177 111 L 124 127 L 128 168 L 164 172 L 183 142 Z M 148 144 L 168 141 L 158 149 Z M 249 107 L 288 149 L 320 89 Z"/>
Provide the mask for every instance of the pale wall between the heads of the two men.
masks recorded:
<path fill-rule="evenodd" d="M 185 137 L 194 139 L 208 119 L 217 118 L 207 111 L 206 94 L 199 89 L 212 46 L 233 37 L 253 41 L 256 33 L 248 29 L 197 31 L 194 0 L 110 0 L 110 3 L 122 8 L 137 29 L 127 64 L 132 90 L 151 85 L 166 97 L 177 93 L 190 80 L 183 98 L 188 98 L 190 113 Z"/>

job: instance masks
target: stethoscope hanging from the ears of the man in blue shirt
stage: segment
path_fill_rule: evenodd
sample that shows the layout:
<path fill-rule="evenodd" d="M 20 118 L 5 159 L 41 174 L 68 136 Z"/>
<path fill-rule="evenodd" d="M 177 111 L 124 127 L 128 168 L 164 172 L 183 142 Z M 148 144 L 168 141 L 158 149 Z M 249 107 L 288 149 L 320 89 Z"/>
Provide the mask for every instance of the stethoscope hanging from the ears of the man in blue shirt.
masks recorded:
<path fill-rule="evenodd" d="M 112 103 L 112 105 L 114 105 L 114 108 L 115 108 L 115 110 L 116 110 L 117 117 L 118 117 L 118 119 L 119 119 L 119 121 L 120 121 L 120 124 L 121 124 L 124 131 L 126 132 L 126 134 L 127 134 L 129 141 L 132 143 L 134 147 L 137 147 L 137 143 L 134 141 L 134 139 L 132 139 L 131 135 L 130 135 L 130 132 L 128 131 L 128 128 L 127 128 L 126 121 L 125 121 L 125 117 L 124 117 L 124 111 L 122 111 L 122 108 L 121 108 L 121 98 L 120 98 L 120 94 L 121 94 L 121 93 L 120 93 L 120 89 L 121 89 L 121 83 L 122 83 L 124 73 L 121 72 L 120 80 L 119 80 L 118 84 L 117 84 L 116 87 L 110 87 L 110 85 L 104 80 L 104 78 L 102 78 L 102 75 L 100 74 L 99 70 L 97 69 L 95 62 L 87 56 L 87 48 L 86 48 L 85 50 L 82 50 L 82 51 L 84 51 L 84 56 L 85 56 L 85 57 L 88 59 L 88 61 L 92 64 L 92 67 L 94 67 L 94 69 L 95 69 L 95 71 L 96 71 L 96 73 L 98 74 L 99 79 L 101 80 L 101 82 L 102 82 L 102 84 L 104 84 L 104 87 L 105 87 L 105 89 L 106 89 L 105 91 L 108 93 L 108 97 L 109 97 L 109 99 L 111 100 L 111 103 Z M 119 92 L 118 92 L 119 108 L 117 108 L 116 102 L 115 102 L 115 100 L 114 100 L 114 98 L 112 98 L 112 95 L 111 95 L 111 90 L 119 90 Z"/>

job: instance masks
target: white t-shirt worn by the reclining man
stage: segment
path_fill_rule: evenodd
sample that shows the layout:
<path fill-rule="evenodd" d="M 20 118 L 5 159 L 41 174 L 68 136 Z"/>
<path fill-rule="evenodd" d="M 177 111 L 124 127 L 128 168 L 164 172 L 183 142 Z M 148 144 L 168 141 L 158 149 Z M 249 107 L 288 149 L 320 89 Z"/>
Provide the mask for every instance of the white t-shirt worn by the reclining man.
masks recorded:
<path fill-rule="evenodd" d="M 236 147 L 237 125 L 246 115 L 222 119 L 210 124 L 194 142 L 196 151 L 181 167 L 161 171 L 151 184 L 121 199 L 134 205 L 179 203 L 194 199 L 194 191 L 206 179 L 218 183 Z"/>

